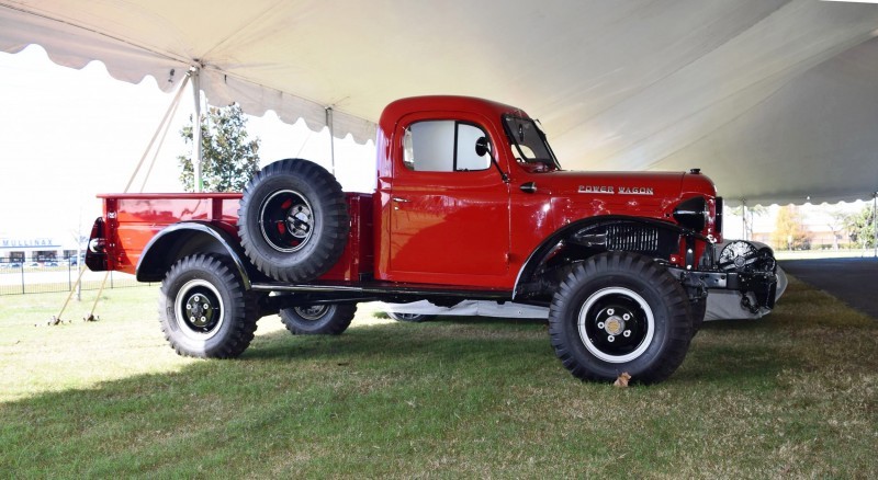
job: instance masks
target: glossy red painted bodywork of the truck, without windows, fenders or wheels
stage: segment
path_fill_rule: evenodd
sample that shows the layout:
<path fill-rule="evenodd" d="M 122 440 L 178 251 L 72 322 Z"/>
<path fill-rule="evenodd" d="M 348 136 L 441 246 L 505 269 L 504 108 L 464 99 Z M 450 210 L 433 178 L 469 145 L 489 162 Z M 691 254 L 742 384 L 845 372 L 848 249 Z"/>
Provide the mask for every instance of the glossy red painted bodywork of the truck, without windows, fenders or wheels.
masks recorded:
<path fill-rule="evenodd" d="M 674 207 L 699 195 L 714 209 L 716 188 L 701 174 L 538 172 L 533 165 L 519 164 L 500 123 L 504 114 L 527 117 L 516 107 L 470 98 L 426 96 L 391 103 L 379 123 L 378 188 L 374 195 L 348 195 L 352 221 L 348 245 L 324 278 L 356 281 L 361 274 L 374 274 L 375 279 L 392 282 L 511 289 L 537 245 L 570 222 L 600 215 L 674 222 Z M 495 146 L 509 183 L 493 167 L 470 172 L 406 169 L 404 132 L 425 119 L 480 126 Z M 530 182 L 536 193 L 522 192 L 520 186 Z M 614 193 L 601 192 L 606 188 Z M 638 188 L 651 188 L 652 194 L 622 193 Z M 100 197 L 105 199 L 111 268 L 134 273 L 147 242 L 177 221 L 212 221 L 237 235 L 240 194 Z M 719 241 L 716 212 L 711 214 L 702 233 Z M 698 243 L 696 258 L 705 248 Z M 683 247 L 679 254 L 685 256 Z"/>

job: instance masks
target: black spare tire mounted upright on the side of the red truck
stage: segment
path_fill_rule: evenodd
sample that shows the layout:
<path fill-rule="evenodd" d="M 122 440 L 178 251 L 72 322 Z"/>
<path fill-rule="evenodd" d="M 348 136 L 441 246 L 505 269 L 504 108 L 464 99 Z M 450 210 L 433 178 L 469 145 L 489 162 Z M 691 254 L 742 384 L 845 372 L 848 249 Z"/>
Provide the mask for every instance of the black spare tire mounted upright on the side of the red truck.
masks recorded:
<path fill-rule="evenodd" d="M 244 188 L 238 236 L 250 262 L 271 278 L 307 282 L 335 265 L 350 230 L 345 193 L 323 167 L 279 160 Z"/>

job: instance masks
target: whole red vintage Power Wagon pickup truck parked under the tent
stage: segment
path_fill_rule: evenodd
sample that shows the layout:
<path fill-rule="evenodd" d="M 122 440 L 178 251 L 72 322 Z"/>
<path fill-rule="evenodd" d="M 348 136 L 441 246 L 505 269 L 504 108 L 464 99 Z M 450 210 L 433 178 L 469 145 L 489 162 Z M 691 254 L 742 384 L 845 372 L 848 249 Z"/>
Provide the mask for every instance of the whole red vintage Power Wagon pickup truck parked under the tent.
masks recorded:
<path fill-rule="evenodd" d="M 710 289 L 774 307 L 773 253 L 714 251 L 722 199 L 697 169 L 564 171 L 525 112 L 461 96 L 391 103 L 375 146 L 372 194 L 286 159 L 241 194 L 100 195 L 88 266 L 161 282 L 183 355 L 238 356 L 268 315 L 338 334 L 361 301 L 515 300 L 550 308 L 552 346 L 584 380 L 667 378 Z"/>

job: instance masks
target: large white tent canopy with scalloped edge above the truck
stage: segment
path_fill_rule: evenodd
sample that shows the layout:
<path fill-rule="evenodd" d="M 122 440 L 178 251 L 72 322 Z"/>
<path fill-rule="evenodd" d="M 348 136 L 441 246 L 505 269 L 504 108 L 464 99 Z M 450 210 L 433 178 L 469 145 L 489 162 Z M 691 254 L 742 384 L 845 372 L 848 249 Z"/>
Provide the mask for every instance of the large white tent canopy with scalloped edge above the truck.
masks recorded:
<path fill-rule="evenodd" d="M 0 49 L 104 62 L 364 141 L 390 101 L 522 107 L 575 170 L 701 168 L 727 201 L 878 187 L 878 5 L 818 0 L 0 0 Z"/>

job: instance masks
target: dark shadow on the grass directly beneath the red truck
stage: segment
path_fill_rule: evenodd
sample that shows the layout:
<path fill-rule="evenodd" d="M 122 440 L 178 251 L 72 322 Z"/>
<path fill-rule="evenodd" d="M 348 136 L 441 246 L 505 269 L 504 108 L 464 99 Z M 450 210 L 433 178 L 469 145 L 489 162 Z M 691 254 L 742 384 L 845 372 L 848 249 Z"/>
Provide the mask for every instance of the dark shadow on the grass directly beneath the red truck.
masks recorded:
<path fill-rule="evenodd" d="M 269 319 L 263 319 L 266 321 Z M 269 320 L 270 321 L 270 320 Z M 695 336 L 689 353 L 666 382 L 752 381 L 761 384 L 785 368 L 796 368 L 799 361 L 784 355 L 775 342 L 748 342 L 754 335 L 769 336 L 773 327 L 756 321 L 707 323 Z M 285 331 L 262 335 L 245 353 L 247 361 L 290 361 L 350 366 L 375 366 L 392 362 L 407 367 L 441 364 L 443 368 L 481 365 L 474 373 L 486 372 L 487 364 L 506 364 L 508 370 L 495 375 L 567 376 L 549 341 L 548 324 L 539 319 L 485 317 L 440 317 L 423 323 L 356 325 L 339 336 L 292 335 Z"/>

